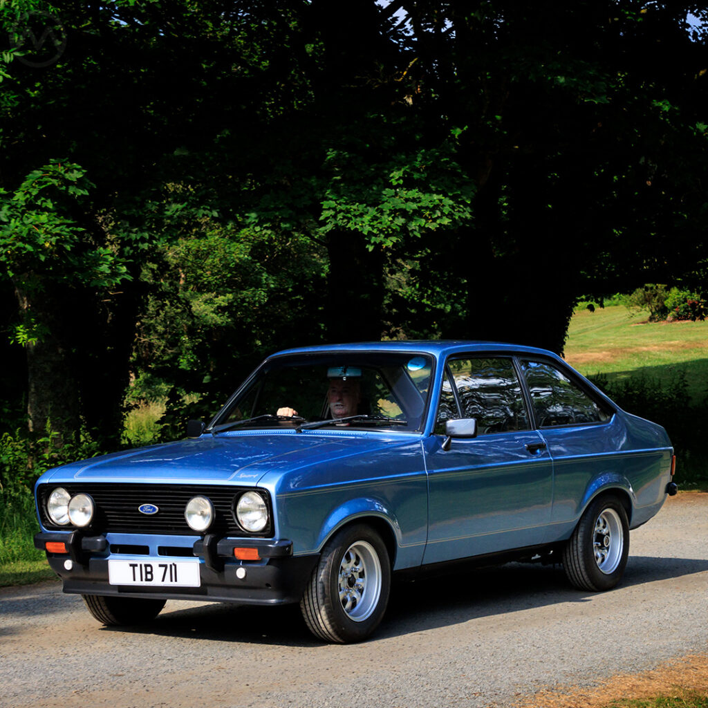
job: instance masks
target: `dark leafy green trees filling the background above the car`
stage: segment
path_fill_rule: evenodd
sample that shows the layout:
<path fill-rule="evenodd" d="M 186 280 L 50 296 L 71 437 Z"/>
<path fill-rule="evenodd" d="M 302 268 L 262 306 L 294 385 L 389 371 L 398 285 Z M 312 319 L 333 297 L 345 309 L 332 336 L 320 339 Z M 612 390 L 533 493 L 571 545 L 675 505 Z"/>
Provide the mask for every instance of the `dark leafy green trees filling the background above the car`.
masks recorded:
<path fill-rule="evenodd" d="M 4 380 L 35 430 L 110 440 L 131 377 L 206 414 L 292 344 L 560 352 L 579 295 L 702 278 L 708 5 L 15 0 L 0 22 L 2 346 L 27 372 Z"/>

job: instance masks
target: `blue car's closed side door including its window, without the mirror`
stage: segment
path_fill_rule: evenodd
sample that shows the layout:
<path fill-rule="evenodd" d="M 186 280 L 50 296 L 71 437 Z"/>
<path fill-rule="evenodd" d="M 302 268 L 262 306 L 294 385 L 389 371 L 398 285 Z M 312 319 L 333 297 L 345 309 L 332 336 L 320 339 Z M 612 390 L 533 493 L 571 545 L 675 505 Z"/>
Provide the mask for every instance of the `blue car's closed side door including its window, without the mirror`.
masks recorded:
<path fill-rule="evenodd" d="M 445 421 L 476 418 L 478 434 L 453 439 Z M 426 440 L 428 542 L 423 562 L 542 544 L 553 478 L 546 443 L 531 418 L 510 356 L 447 361 L 435 434 Z"/>

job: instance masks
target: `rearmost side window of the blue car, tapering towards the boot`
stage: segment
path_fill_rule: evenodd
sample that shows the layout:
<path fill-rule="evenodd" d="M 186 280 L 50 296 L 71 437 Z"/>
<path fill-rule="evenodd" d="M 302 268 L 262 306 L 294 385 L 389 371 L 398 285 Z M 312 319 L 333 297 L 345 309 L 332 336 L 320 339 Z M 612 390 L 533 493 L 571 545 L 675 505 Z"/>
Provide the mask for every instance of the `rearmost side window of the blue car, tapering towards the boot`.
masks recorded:
<path fill-rule="evenodd" d="M 601 423 L 610 416 L 552 364 L 522 360 L 539 427 Z"/>

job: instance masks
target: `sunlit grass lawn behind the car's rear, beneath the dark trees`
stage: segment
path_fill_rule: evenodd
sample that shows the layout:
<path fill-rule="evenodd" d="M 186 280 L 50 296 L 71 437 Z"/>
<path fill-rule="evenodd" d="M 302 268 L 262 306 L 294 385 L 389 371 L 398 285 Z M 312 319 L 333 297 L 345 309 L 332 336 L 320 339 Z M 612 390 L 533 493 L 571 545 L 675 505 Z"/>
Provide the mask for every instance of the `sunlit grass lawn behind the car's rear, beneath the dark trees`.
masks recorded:
<path fill-rule="evenodd" d="M 638 373 L 670 381 L 686 375 L 694 404 L 708 394 L 708 321 L 647 322 L 648 313 L 612 305 L 573 315 L 567 362 L 585 376 L 627 378 Z"/>

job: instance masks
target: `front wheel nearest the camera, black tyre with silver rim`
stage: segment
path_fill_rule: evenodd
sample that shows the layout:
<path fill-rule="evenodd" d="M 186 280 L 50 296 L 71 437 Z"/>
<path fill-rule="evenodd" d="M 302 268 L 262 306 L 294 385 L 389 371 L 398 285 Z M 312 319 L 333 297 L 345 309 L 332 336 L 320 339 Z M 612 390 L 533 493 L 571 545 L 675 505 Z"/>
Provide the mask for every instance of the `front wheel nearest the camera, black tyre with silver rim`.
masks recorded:
<path fill-rule="evenodd" d="M 384 542 L 368 526 L 348 526 L 324 547 L 300 610 L 316 637 L 348 644 L 378 627 L 390 590 L 391 564 Z"/>

